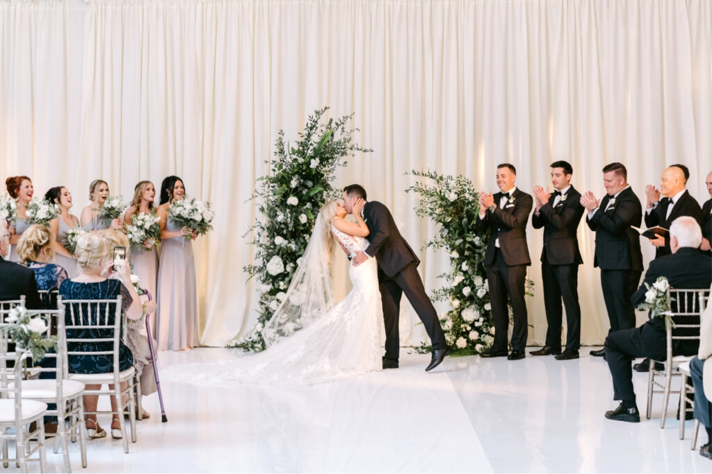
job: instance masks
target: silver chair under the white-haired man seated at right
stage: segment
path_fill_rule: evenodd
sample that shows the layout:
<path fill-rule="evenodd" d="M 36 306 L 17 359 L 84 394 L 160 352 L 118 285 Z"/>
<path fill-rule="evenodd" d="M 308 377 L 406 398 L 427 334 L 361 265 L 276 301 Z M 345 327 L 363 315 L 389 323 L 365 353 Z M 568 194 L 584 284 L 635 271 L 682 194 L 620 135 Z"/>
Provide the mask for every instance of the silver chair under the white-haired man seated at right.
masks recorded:
<path fill-rule="evenodd" d="M 666 323 L 666 358 L 665 360 L 653 361 L 650 363 L 648 372 L 648 403 L 646 409 L 646 418 L 650 419 L 653 405 L 653 394 L 663 394 L 663 407 L 660 419 L 660 428 L 665 428 L 665 419 L 667 414 L 670 394 L 681 394 L 680 390 L 671 390 L 672 377 L 681 375 L 676 372 L 682 362 L 689 362 L 693 356 L 673 355 L 672 345 L 674 340 L 699 340 L 700 338 L 700 316 L 704 309 L 704 298 L 709 293 L 708 289 L 669 289 L 671 298 L 671 306 L 674 311 L 672 320 L 674 327 Z M 663 370 L 655 370 L 653 362 L 661 362 L 664 364 Z M 675 372 L 674 372 L 675 370 Z M 662 383 L 656 380 L 656 377 L 662 378 Z M 680 413 L 681 423 L 684 423 L 683 412 Z"/>

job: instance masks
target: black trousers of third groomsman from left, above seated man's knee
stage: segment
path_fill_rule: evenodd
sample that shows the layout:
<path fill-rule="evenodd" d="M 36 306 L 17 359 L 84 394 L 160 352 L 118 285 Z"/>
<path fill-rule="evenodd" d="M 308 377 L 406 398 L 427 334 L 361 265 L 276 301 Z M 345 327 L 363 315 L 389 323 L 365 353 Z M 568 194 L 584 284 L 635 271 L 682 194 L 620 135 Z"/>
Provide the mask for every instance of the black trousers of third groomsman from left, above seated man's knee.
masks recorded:
<path fill-rule="evenodd" d="M 635 308 L 630 298 L 638 289 L 641 274 L 637 270 L 601 270 L 603 299 L 611 325 L 609 334 L 635 327 Z"/>

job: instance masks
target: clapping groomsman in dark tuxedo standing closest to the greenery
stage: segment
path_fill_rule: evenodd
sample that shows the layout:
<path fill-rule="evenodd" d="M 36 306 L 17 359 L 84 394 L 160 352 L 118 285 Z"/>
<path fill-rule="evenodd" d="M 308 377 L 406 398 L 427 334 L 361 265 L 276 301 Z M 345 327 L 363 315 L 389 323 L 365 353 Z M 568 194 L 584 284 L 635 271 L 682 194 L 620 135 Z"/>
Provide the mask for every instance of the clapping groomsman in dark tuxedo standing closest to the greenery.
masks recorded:
<path fill-rule="evenodd" d="M 525 357 L 527 344 L 527 307 L 524 301 L 524 282 L 527 266 L 531 264 L 527 247 L 526 227 L 533 199 L 518 190 L 514 182 L 517 170 L 509 163 L 497 166 L 497 185 L 500 193 L 480 193 L 480 212 L 476 227 L 489 227 L 490 241 L 485 253 L 487 281 L 494 321 L 494 343 L 482 357 L 507 355 L 507 332 L 509 311 L 507 298 L 511 301 L 514 330 L 512 352 L 509 360 Z"/>

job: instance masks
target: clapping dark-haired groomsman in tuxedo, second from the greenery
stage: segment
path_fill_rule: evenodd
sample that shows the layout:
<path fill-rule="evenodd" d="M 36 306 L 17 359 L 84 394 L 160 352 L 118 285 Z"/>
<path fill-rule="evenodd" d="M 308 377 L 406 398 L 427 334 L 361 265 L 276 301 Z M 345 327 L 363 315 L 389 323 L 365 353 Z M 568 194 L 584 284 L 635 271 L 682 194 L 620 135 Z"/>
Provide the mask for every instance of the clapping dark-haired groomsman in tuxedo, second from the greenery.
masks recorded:
<path fill-rule="evenodd" d="M 541 276 L 544 281 L 546 308 L 546 342 L 531 355 L 554 354 L 557 360 L 579 357 L 581 342 L 581 308 L 578 301 L 578 268 L 583 263 L 576 230 L 584 208 L 581 193 L 570 184 L 573 168 L 566 161 L 551 164 L 549 194 L 543 187 L 534 188 L 536 208 L 532 217 L 535 229 L 544 227 L 541 252 Z M 561 352 L 561 302 L 566 308 L 566 348 Z"/>

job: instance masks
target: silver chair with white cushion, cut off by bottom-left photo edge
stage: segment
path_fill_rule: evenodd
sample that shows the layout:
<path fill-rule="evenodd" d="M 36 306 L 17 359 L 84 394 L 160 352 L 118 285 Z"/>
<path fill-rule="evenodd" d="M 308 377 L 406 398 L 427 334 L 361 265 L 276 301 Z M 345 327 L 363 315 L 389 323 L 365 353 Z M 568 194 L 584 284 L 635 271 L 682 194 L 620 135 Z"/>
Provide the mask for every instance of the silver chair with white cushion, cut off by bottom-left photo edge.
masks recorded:
<path fill-rule="evenodd" d="M 47 459 L 45 453 L 43 417 L 47 404 L 36 400 L 22 398 L 23 362 L 28 357 L 26 351 L 9 351 L 8 338 L 1 330 L 9 326 L 5 319 L 9 310 L 0 310 L 0 440 L 2 441 L 2 460 L 4 467 L 9 461 L 15 461 L 23 473 L 27 472 L 27 462 L 34 453 L 39 453 L 40 472 L 46 471 Z M 13 367 L 7 366 L 7 361 L 14 362 Z M 31 424 L 35 429 L 30 429 Z M 9 441 L 15 441 L 15 458 L 9 458 Z M 36 440 L 35 446 L 31 441 Z"/>

